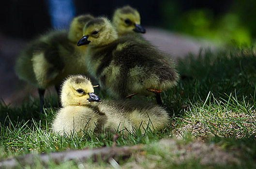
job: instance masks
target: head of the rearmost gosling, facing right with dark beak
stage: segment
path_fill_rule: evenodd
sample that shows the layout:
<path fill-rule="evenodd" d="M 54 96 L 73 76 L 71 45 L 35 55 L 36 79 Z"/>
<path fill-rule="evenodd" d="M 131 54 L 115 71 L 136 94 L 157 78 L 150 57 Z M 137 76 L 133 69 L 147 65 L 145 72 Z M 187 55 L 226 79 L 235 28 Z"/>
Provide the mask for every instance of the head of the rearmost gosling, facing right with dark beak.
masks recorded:
<path fill-rule="evenodd" d="M 118 8 L 113 15 L 113 24 L 118 34 L 123 35 L 130 32 L 146 33 L 146 29 L 140 25 L 138 11 L 130 6 Z"/>

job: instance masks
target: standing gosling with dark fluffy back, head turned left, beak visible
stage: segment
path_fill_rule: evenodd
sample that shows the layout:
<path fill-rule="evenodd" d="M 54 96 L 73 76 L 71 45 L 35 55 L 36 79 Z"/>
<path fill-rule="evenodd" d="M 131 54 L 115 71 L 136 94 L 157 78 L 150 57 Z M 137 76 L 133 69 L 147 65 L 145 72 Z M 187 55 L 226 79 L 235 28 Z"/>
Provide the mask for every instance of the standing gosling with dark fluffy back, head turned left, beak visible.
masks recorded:
<path fill-rule="evenodd" d="M 118 38 L 105 17 L 90 20 L 83 32 L 85 36 L 77 45 L 88 44 L 87 68 L 112 97 L 155 93 L 157 103 L 162 104 L 159 93 L 177 84 L 179 74 L 170 58 L 134 36 Z"/>

